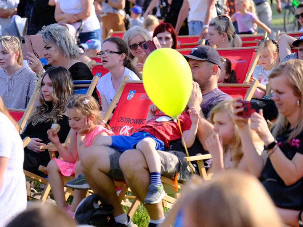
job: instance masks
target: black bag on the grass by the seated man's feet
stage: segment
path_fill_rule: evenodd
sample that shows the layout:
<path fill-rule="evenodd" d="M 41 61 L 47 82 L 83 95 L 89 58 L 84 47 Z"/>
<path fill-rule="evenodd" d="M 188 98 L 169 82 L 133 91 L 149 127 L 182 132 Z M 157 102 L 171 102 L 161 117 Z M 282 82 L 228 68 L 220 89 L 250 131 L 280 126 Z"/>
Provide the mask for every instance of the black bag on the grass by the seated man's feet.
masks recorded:
<path fill-rule="evenodd" d="M 113 218 L 112 205 L 101 203 L 100 197 L 90 195 L 83 199 L 75 211 L 75 220 L 79 225 L 94 225 L 96 227 L 106 227 L 108 218 Z"/>

